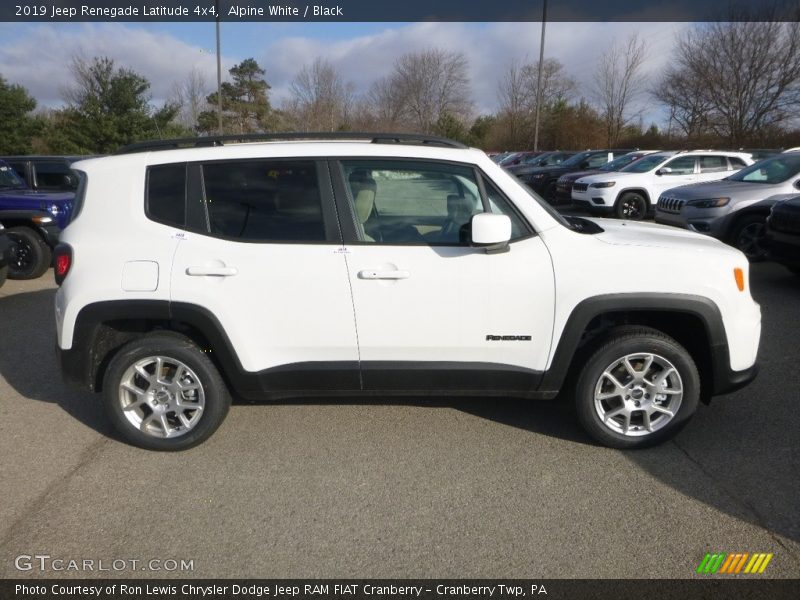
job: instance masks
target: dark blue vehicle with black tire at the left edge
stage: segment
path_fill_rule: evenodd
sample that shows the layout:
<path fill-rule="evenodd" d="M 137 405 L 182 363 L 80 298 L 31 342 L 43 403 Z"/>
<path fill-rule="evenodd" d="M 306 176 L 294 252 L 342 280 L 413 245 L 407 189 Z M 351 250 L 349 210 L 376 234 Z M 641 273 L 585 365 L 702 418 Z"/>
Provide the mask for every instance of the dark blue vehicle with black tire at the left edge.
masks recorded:
<path fill-rule="evenodd" d="M 0 160 L 0 223 L 13 243 L 8 276 L 35 279 L 50 267 L 59 232 L 75 204 L 73 192 L 35 192 Z"/>

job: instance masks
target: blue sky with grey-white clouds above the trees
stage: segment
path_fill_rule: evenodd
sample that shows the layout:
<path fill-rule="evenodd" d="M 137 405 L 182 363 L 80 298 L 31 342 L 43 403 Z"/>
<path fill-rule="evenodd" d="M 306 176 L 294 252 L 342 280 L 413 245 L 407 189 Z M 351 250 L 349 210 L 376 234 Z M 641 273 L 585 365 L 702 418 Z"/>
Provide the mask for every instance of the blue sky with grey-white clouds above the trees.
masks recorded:
<path fill-rule="evenodd" d="M 686 23 L 548 23 L 545 55 L 556 58 L 591 97 L 598 57 L 615 39 L 638 33 L 648 45 L 652 75 L 669 61 Z M 470 65 L 479 113 L 497 108 L 498 82 L 512 61 L 535 61 L 539 23 L 223 23 L 223 70 L 254 57 L 266 69 L 274 105 L 287 97 L 292 78 L 316 57 L 336 65 L 356 90 L 366 90 L 409 51 L 440 47 L 463 52 Z M 196 68 L 216 82 L 214 23 L 0 24 L 0 74 L 25 86 L 42 106 L 62 104 L 75 56 L 109 56 L 151 82 L 155 102 Z M 641 100 L 645 125 L 661 111 Z"/>

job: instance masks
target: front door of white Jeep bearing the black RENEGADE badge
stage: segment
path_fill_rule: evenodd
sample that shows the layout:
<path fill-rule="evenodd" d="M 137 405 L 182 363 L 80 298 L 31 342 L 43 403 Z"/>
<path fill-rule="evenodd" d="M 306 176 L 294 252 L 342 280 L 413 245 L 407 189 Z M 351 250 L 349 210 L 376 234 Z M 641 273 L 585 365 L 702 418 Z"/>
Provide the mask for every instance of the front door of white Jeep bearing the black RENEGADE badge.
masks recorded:
<path fill-rule="evenodd" d="M 553 272 L 541 238 L 470 165 L 332 163 L 367 390 L 531 391 L 550 348 Z M 470 246 L 503 212 L 507 252 Z"/>

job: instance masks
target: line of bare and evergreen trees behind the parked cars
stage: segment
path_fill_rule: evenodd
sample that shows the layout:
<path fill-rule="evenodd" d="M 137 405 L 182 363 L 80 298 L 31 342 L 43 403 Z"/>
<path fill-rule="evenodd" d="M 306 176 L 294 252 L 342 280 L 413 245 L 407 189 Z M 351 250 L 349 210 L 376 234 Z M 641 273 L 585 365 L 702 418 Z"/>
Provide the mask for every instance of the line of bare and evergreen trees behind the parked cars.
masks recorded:
<path fill-rule="evenodd" d="M 105 154 L 143 139 L 269 131 L 396 131 L 437 134 L 489 149 L 530 149 L 539 104 L 541 149 L 756 147 L 800 143 L 800 23 L 698 23 L 660 73 L 644 71 L 645 41 L 617 40 L 598 58 L 589 89 L 554 58 L 512 62 L 498 109 L 476 114 L 469 64 L 428 48 L 399 57 L 357 91 L 329 61 L 303 66 L 279 107 L 253 58 L 232 67 L 220 95 L 199 71 L 161 105 L 150 83 L 110 58 L 74 59 L 64 106 L 36 110 L 23 87 L 0 76 L 0 153 Z M 645 128 L 640 107 L 658 103 L 666 122 Z M 219 107 L 221 106 L 221 118 Z"/>

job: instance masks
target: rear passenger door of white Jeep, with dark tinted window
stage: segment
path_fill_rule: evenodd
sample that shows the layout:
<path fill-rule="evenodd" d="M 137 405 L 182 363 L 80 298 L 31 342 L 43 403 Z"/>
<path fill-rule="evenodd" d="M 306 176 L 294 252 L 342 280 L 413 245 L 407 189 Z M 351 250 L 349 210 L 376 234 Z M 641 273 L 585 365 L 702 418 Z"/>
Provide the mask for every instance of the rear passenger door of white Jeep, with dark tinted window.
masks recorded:
<path fill-rule="evenodd" d="M 172 307 L 203 307 L 246 385 L 359 389 L 347 266 L 327 165 L 309 159 L 190 165 L 193 228 L 175 253 Z"/>

